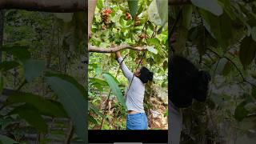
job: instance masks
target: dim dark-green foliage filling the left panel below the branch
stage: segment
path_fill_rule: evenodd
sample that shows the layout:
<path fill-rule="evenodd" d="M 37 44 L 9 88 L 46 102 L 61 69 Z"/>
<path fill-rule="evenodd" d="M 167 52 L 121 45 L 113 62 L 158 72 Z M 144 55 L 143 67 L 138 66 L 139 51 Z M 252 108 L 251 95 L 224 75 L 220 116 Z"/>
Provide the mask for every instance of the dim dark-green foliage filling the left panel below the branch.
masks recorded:
<path fill-rule="evenodd" d="M 4 19 L 0 141 L 86 141 L 86 14 L 6 10 Z"/>

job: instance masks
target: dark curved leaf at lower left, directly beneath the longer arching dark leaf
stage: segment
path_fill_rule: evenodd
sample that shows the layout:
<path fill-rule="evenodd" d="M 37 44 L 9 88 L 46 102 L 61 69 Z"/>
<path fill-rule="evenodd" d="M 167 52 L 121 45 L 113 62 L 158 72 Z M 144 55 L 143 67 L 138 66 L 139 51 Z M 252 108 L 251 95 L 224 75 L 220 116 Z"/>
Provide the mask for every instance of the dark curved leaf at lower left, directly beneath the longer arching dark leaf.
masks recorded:
<path fill-rule="evenodd" d="M 21 118 L 25 119 L 31 126 L 34 126 L 38 132 L 46 134 L 48 126 L 42 118 L 40 112 L 34 106 L 22 105 L 16 107 L 10 114 L 18 114 Z"/>

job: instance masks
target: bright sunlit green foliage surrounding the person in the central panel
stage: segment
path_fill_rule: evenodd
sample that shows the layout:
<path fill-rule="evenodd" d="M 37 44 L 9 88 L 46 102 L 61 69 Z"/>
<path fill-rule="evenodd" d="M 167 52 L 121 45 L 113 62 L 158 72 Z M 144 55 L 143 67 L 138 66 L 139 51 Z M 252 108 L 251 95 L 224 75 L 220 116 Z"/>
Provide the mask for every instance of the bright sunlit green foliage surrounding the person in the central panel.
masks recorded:
<path fill-rule="evenodd" d="M 160 9 L 161 6 L 166 6 L 166 10 Z M 155 126 L 156 118 L 150 118 L 152 117 L 151 110 L 157 110 L 160 112 L 157 116 L 158 121 L 166 122 L 164 115 L 166 116 L 167 103 L 164 104 L 158 98 L 162 93 L 166 94 L 167 90 L 168 32 L 166 22 L 167 1 L 99 0 L 90 38 L 91 45 L 106 49 L 123 44 L 147 47 L 147 51 L 122 50 L 121 52 L 123 58 L 127 55 L 124 62 L 131 71 L 134 71 L 142 60 L 142 66 L 154 72 L 154 82 L 146 86 L 145 95 L 145 108 L 151 129 L 167 128 L 167 124 Z M 89 102 L 94 109 L 89 111 L 89 129 L 126 129 L 124 96 L 128 82 L 121 70 L 118 73 L 118 67 L 114 54 L 90 53 Z M 156 90 L 157 88 L 159 89 Z M 108 97 L 110 97 L 109 102 Z M 155 99 L 157 102 L 153 102 Z M 102 117 L 106 119 L 103 125 Z"/>

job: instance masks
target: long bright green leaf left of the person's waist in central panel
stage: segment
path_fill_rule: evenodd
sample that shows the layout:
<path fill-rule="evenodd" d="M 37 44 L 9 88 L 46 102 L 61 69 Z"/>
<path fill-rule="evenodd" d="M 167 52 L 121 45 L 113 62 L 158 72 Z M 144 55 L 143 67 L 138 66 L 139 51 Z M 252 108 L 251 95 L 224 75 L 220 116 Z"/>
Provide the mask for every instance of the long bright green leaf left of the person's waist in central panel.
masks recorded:
<path fill-rule="evenodd" d="M 117 96 L 118 102 L 120 102 L 122 106 L 126 108 L 126 102 L 125 102 L 125 99 L 123 98 L 122 91 L 118 86 L 118 80 L 109 73 L 104 73 L 102 74 L 102 76 L 103 78 L 106 79 L 106 82 L 109 84 L 112 92 Z"/>

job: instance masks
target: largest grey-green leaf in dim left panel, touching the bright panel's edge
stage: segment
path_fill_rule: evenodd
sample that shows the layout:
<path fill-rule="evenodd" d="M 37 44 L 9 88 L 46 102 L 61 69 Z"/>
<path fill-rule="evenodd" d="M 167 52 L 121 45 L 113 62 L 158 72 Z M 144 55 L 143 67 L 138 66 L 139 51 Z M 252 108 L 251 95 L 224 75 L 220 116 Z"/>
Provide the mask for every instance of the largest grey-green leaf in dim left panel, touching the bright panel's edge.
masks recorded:
<path fill-rule="evenodd" d="M 62 78 L 65 78 L 62 75 Z M 57 76 L 46 77 L 46 82 L 54 93 L 58 95 L 59 101 L 64 106 L 67 114 L 74 123 L 76 134 L 84 141 L 86 140 L 86 99 L 81 90 L 73 83 Z M 66 76 L 69 79 L 69 76 Z"/>

